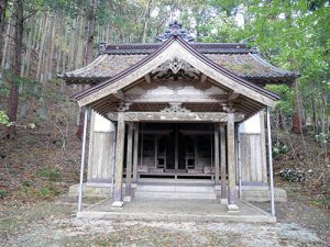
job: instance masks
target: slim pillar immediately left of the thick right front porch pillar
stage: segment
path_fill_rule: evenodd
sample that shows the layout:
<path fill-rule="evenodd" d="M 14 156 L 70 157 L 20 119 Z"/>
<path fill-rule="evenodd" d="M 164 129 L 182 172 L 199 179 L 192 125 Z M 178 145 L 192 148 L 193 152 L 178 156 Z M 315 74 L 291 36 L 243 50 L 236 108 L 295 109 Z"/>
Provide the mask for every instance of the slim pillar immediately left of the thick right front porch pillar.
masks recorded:
<path fill-rule="evenodd" d="M 227 157 L 226 157 L 226 130 L 224 125 L 220 126 L 220 154 L 221 154 L 221 204 L 228 204 L 227 198 Z"/>

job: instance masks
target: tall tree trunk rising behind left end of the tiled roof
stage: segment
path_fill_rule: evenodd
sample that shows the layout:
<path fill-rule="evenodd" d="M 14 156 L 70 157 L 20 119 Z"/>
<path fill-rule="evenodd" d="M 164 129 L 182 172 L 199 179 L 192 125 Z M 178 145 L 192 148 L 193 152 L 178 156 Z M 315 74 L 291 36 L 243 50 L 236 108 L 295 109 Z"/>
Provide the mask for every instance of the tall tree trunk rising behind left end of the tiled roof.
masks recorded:
<path fill-rule="evenodd" d="M 88 40 L 87 40 L 87 49 L 86 49 L 86 64 L 90 64 L 94 59 L 92 56 L 92 47 L 94 47 L 94 40 L 95 40 L 95 29 L 96 29 L 96 18 L 97 18 L 97 10 L 98 10 L 98 0 L 91 1 L 91 12 L 88 19 Z M 86 87 L 81 87 L 81 89 L 86 89 Z M 78 138 L 82 138 L 84 132 L 84 111 L 85 109 L 81 108 L 79 110 L 79 125 L 76 135 Z"/>

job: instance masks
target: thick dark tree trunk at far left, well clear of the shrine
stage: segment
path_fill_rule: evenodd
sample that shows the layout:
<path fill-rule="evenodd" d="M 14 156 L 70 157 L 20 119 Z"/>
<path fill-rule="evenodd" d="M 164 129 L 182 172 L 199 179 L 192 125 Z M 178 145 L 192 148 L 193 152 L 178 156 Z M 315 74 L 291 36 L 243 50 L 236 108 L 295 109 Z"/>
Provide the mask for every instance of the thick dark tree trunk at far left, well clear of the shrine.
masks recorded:
<path fill-rule="evenodd" d="M 14 20 L 15 20 L 15 32 L 14 32 L 14 56 L 13 56 L 13 67 L 12 77 L 10 80 L 10 93 L 8 100 L 8 116 L 10 122 L 16 121 L 18 105 L 19 105 L 19 83 L 18 78 L 21 75 L 21 54 L 22 54 L 22 41 L 23 41 L 23 0 L 15 1 L 14 9 Z M 15 125 L 7 128 L 7 137 L 13 138 L 15 134 Z"/>

